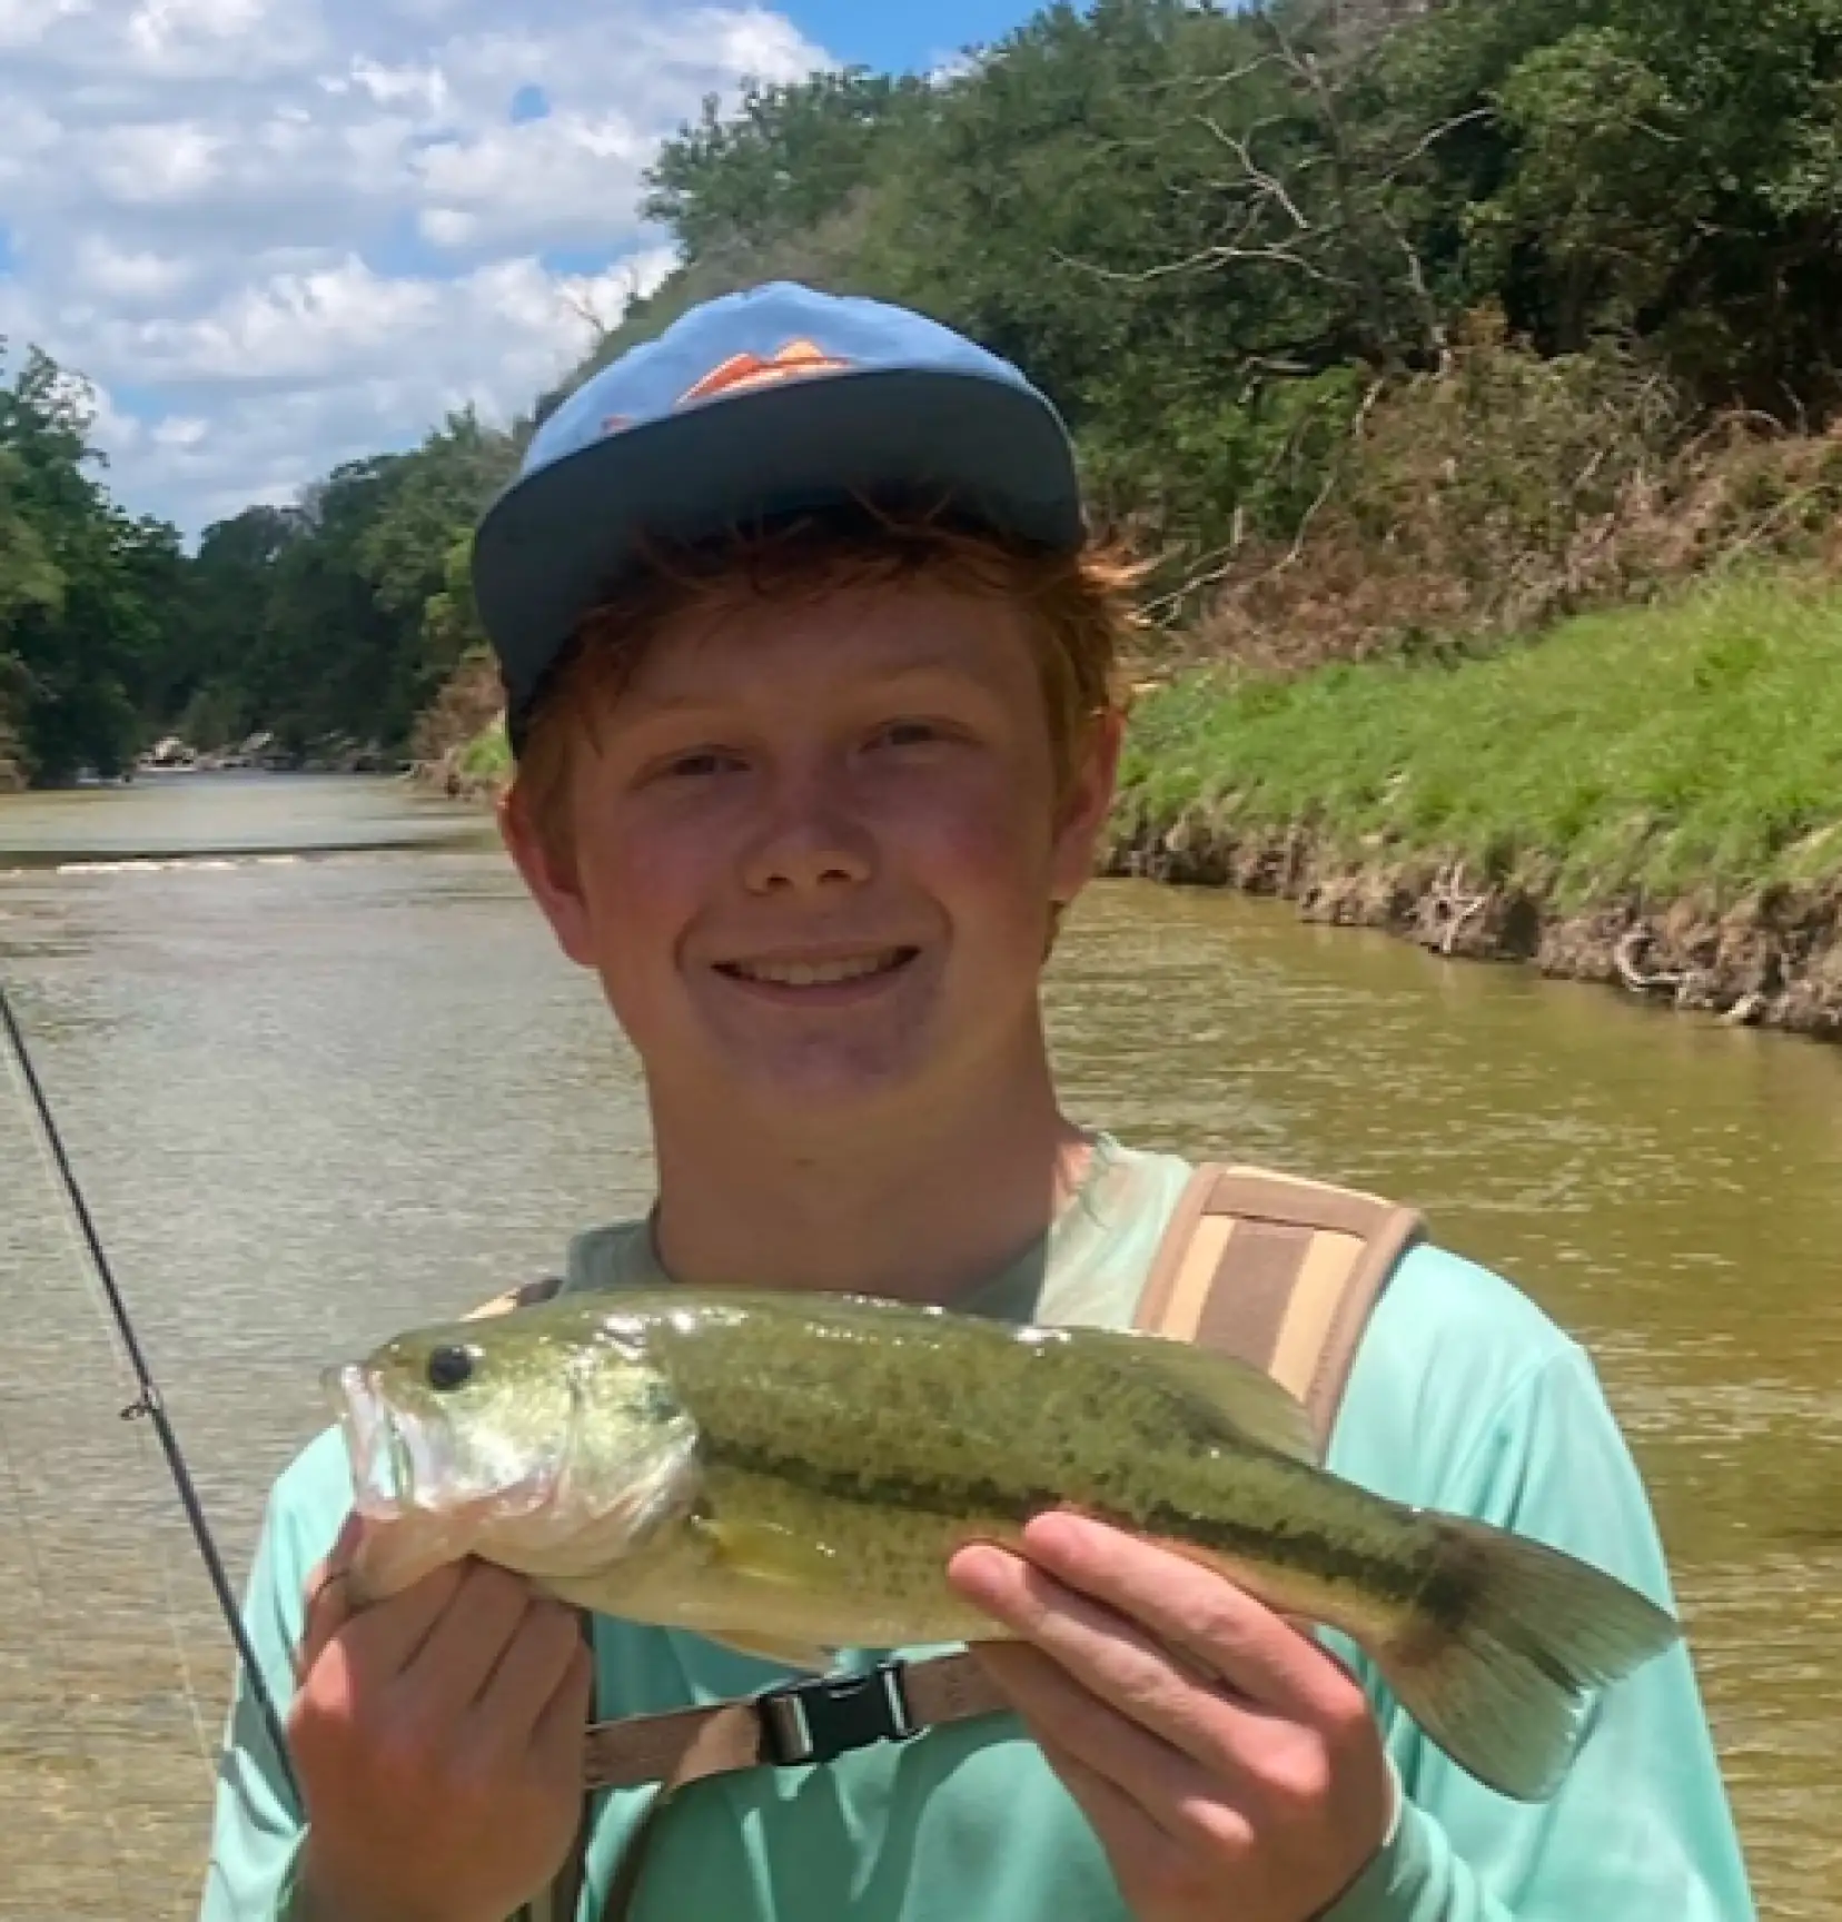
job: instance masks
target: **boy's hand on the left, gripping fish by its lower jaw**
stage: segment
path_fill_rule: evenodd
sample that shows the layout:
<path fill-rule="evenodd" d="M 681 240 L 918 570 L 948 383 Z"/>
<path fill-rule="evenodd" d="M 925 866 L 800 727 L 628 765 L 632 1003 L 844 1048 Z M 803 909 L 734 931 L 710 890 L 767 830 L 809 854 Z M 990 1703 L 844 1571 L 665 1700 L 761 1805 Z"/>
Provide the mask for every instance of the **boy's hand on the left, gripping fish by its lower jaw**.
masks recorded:
<path fill-rule="evenodd" d="M 310 1580 L 288 1718 L 310 1820 L 302 1922 L 500 1922 L 556 1872 L 581 1812 L 575 1616 L 481 1561 L 354 1613 L 356 1547 L 348 1524 Z"/>

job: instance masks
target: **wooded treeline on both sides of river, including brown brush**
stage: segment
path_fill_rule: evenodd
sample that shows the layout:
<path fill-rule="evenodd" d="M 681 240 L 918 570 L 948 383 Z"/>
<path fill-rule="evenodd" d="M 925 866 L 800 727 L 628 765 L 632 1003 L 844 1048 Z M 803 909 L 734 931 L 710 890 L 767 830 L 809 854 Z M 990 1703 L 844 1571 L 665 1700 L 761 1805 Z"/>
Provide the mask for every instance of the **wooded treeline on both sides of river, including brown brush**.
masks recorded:
<path fill-rule="evenodd" d="M 681 265 L 588 365 L 763 277 L 911 302 L 1042 381 L 1217 648 L 1527 621 L 1834 505 L 1842 0 L 1058 4 L 946 77 L 706 104 L 646 213 Z M 185 559 L 110 507 L 50 373 L 0 400 L 15 755 L 408 742 L 477 646 L 467 529 L 560 396 Z M 1671 548 L 1673 504 L 1715 536 Z"/>

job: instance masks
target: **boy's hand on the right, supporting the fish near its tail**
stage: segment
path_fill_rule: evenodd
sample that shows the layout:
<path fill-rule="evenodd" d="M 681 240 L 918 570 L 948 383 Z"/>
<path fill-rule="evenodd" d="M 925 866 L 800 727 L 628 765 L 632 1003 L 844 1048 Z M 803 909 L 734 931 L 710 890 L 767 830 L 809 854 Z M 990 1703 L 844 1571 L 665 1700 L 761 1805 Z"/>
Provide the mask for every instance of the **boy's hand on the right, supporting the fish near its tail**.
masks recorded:
<path fill-rule="evenodd" d="M 1073 1515 L 975 1547 L 977 1643 L 1138 1922 L 1309 1922 L 1386 1837 L 1394 1784 L 1350 1672 L 1196 1563 Z M 1171 1651 L 1181 1651 L 1173 1655 Z"/>

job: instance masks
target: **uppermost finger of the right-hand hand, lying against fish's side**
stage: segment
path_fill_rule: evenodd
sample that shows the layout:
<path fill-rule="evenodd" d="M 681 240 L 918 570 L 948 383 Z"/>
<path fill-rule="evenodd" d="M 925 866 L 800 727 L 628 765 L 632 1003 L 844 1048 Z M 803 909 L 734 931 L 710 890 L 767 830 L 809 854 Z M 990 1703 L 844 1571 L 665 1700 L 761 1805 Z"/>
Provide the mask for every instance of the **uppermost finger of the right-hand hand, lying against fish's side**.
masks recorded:
<path fill-rule="evenodd" d="M 1331 1711 L 1348 1670 L 1315 1638 L 1213 1568 L 1079 1515 L 1044 1515 L 1023 1551 L 1058 1582 L 1148 1628 L 1269 1711 Z"/>

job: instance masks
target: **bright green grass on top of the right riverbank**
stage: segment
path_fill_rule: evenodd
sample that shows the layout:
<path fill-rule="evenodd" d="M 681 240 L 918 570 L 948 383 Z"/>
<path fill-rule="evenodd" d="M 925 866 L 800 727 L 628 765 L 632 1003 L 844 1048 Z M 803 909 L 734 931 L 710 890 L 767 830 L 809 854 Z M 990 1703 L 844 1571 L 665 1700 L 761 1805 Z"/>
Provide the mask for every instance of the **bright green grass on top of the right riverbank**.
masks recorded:
<path fill-rule="evenodd" d="M 1563 905 L 1842 875 L 1842 592 L 1755 579 L 1436 665 L 1146 698 L 1125 819 L 1202 805 L 1357 850 L 1542 867 Z"/>

